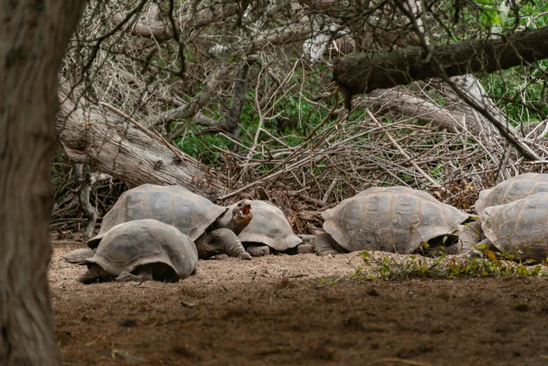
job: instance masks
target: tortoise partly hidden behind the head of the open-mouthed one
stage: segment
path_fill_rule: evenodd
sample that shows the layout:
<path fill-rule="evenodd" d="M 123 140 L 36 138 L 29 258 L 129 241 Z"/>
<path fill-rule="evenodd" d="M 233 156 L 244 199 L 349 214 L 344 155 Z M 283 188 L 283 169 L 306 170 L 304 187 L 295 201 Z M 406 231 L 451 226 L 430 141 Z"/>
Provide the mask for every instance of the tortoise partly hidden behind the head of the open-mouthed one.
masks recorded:
<path fill-rule="evenodd" d="M 249 201 L 249 203 L 253 211 L 253 219 L 238 235 L 238 239 L 249 254 L 259 257 L 268 255 L 270 251 L 313 252 L 309 245 L 303 245 L 303 240 L 293 233 L 291 225 L 280 208 L 259 200 Z M 228 207 L 233 209 L 235 205 Z"/>

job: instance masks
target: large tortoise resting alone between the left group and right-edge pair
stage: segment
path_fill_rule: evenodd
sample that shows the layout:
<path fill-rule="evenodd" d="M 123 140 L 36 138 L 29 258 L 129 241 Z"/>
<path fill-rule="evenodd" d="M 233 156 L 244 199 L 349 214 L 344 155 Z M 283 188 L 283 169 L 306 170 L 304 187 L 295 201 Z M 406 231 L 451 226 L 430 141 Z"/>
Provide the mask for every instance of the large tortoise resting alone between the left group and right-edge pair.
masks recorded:
<path fill-rule="evenodd" d="M 357 250 L 409 254 L 446 248 L 457 254 L 470 217 L 407 187 L 372 187 L 322 212 L 325 233 L 314 240 L 318 255 Z M 465 239 L 466 240 L 466 239 Z M 428 245 L 424 245 L 428 243 Z"/>

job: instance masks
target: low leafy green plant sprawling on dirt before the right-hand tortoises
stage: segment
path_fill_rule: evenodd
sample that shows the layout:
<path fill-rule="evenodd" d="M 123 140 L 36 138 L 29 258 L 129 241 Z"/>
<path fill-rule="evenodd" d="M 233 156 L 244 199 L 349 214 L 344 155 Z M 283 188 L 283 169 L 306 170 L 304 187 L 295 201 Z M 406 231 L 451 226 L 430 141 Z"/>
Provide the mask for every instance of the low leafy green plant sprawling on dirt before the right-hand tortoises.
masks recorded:
<path fill-rule="evenodd" d="M 352 273 L 358 280 L 403 280 L 409 278 L 480 278 L 480 277 L 542 277 L 548 275 L 548 262 L 528 266 L 528 263 L 500 259 L 493 252 L 484 258 L 447 257 L 436 259 L 409 255 L 374 257 L 360 253 L 364 266 Z"/>

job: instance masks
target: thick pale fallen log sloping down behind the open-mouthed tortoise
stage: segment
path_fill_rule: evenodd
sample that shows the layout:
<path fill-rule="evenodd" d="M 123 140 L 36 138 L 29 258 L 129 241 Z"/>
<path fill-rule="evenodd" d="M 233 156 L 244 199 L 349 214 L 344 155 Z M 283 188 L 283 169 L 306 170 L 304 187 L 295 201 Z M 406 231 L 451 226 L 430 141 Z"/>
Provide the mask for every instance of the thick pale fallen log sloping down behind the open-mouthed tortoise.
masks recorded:
<path fill-rule="evenodd" d="M 133 185 L 177 184 L 207 197 L 223 191 L 219 175 L 210 174 L 198 161 L 180 151 L 175 155 L 160 137 L 100 111 L 83 98 L 76 107 L 68 93 L 69 86 L 62 83 L 60 98 L 65 101 L 55 128 L 71 161 L 94 165 Z"/>

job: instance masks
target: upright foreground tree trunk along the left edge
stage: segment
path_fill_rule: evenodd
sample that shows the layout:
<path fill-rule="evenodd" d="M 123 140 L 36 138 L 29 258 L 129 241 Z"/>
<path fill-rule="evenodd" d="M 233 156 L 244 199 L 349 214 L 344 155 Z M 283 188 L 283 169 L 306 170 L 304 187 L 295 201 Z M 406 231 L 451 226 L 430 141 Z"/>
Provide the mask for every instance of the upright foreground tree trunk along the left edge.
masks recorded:
<path fill-rule="evenodd" d="M 85 1 L 0 1 L 0 364 L 61 365 L 47 268 L 57 72 Z"/>

